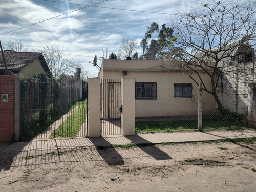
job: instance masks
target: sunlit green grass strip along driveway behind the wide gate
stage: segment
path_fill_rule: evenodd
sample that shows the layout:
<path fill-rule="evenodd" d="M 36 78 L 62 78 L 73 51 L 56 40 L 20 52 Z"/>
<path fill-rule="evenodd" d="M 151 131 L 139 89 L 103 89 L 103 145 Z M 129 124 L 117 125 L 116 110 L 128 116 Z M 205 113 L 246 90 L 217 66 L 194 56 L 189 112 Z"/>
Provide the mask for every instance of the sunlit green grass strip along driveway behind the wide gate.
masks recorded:
<path fill-rule="evenodd" d="M 55 137 L 76 137 L 86 118 L 87 100 L 78 101 L 72 106 L 73 113 L 55 130 Z M 54 133 L 50 138 L 54 137 Z"/>

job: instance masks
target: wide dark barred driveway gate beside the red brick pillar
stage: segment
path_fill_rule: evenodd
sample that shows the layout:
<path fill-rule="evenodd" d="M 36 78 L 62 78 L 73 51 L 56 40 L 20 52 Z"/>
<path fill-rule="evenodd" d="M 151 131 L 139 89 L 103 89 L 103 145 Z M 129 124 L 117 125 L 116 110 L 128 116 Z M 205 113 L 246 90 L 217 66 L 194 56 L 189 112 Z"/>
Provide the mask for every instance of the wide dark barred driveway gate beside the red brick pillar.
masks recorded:
<path fill-rule="evenodd" d="M 87 135 L 87 84 L 39 75 L 20 80 L 20 140 Z"/>

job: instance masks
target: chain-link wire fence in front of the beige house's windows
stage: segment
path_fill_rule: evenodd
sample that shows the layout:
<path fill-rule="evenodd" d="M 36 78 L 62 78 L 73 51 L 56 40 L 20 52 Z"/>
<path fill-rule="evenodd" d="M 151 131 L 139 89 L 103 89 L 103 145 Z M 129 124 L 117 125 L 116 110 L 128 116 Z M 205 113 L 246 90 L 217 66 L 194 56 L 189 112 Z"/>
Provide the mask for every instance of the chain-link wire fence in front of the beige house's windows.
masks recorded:
<path fill-rule="evenodd" d="M 198 129 L 198 88 L 175 83 L 172 88 L 135 84 L 135 132 Z M 203 91 L 202 128 L 244 129 L 244 115 L 218 110 L 214 97 Z"/>

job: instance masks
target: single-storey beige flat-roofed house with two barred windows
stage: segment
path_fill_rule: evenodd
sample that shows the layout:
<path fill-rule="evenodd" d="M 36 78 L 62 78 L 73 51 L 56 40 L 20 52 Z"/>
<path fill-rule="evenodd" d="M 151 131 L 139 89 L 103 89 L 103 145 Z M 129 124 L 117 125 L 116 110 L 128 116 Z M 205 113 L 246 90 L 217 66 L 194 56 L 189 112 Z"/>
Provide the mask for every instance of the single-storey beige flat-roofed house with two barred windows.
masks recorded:
<path fill-rule="evenodd" d="M 198 115 L 198 85 L 188 78 L 187 69 L 177 61 L 112 60 L 103 59 L 99 78 L 135 78 L 135 117 L 196 117 Z M 207 74 L 199 71 L 207 87 L 211 82 Z M 198 77 L 193 74 L 198 80 Z M 109 81 L 108 100 L 104 106 L 114 106 L 120 87 Z M 116 90 L 115 90 L 116 89 Z M 116 102 L 121 103 L 121 102 Z M 203 91 L 203 115 L 216 109 L 215 99 Z M 115 110 L 109 110 L 111 113 Z M 103 116 L 102 112 L 101 115 Z M 108 115 L 111 118 L 111 114 Z M 104 115 L 104 117 L 106 117 Z"/>

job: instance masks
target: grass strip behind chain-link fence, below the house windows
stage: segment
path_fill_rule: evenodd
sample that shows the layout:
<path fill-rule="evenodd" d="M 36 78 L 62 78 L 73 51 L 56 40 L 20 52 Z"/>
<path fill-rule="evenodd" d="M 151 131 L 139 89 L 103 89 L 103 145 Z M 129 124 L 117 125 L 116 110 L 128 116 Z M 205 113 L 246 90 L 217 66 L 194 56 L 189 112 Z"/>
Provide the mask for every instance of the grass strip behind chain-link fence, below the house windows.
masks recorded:
<path fill-rule="evenodd" d="M 179 121 L 137 121 L 135 132 L 171 132 L 174 130 L 192 130 L 198 128 L 198 120 Z M 243 130 L 246 126 L 236 122 L 221 121 L 214 118 L 203 118 L 203 130 Z"/>

